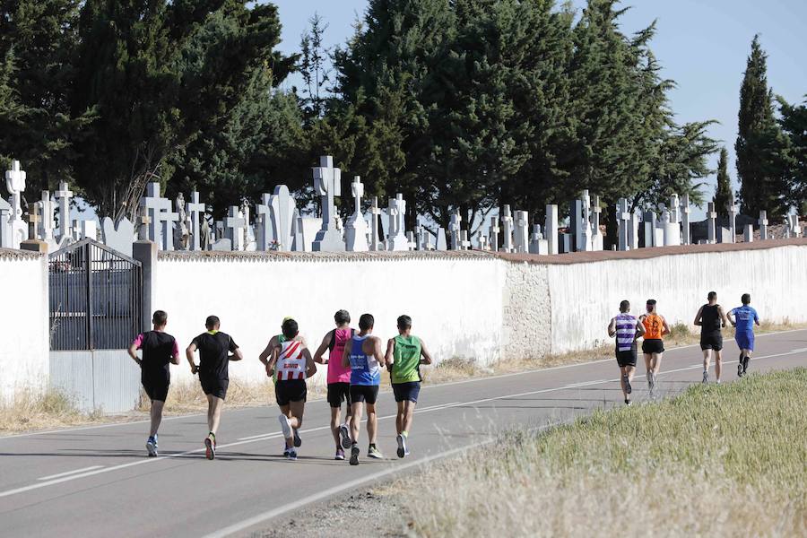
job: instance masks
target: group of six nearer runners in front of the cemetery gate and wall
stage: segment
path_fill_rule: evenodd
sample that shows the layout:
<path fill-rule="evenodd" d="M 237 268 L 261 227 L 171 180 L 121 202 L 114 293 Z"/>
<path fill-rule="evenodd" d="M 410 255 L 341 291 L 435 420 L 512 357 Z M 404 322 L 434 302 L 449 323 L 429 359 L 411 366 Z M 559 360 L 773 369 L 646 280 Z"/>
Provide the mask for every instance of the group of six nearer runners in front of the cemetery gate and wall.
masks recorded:
<path fill-rule="evenodd" d="M 373 335 L 375 319 L 362 314 L 359 330 L 351 328 L 351 316 L 346 310 L 334 315 L 336 327 L 322 339 L 314 355 L 308 350 L 305 339 L 299 334 L 299 325 L 291 317 L 283 319 L 281 334 L 273 336 L 258 357 L 265 365 L 266 375 L 274 382 L 275 400 L 280 407 L 280 421 L 284 438 L 283 456 L 297 459 L 302 445 L 299 429 L 308 394 L 306 380 L 317 372 L 317 363 L 327 365 L 327 397 L 331 407 L 331 431 L 334 436 L 336 460 L 345 459 L 345 450 L 351 449 L 350 464 L 358 465 L 360 448 L 360 422 L 367 412 L 369 447 L 367 456 L 380 459 L 384 456 L 377 447 L 376 401 L 381 384 L 381 372 L 386 368 L 397 404 L 395 441 L 397 456 L 409 455 L 407 440 L 412 428 L 412 413 L 421 390 L 421 364 L 431 364 L 431 355 L 425 343 L 412 334 L 412 318 L 397 319 L 398 334 L 386 343 Z M 168 315 L 158 310 L 152 317 L 153 329 L 138 334 L 129 346 L 129 355 L 141 367 L 141 381 L 146 395 L 152 401 L 151 430 L 146 441 L 149 456 L 158 455 L 158 430 L 162 410 L 170 385 L 170 364 L 179 364 L 176 339 L 165 332 Z M 221 408 L 229 385 L 230 360 L 242 360 L 239 346 L 229 334 L 220 330 L 221 321 L 210 316 L 205 321 L 206 332 L 196 336 L 186 350 L 187 361 L 208 401 L 208 434 L 204 438 L 205 456 L 214 459 L 216 431 L 221 420 Z M 138 358 L 137 351 L 142 352 Z M 199 364 L 195 352 L 199 351 Z M 327 356 L 325 356 L 327 351 Z M 345 404 L 344 421 L 342 405 Z"/>

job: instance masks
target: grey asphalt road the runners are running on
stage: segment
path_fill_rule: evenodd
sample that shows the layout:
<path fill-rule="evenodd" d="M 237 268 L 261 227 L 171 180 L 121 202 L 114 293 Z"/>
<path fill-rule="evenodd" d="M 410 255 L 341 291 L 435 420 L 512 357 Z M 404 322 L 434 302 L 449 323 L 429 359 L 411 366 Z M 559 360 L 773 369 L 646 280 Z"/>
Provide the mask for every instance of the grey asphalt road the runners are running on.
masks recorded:
<path fill-rule="evenodd" d="M 737 355 L 726 340 L 724 380 Z M 807 330 L 757 337 L 753 371 L 807 365 Z M 647 399 L 639 358 L 634 402 Z M 660 393 L 701 378 L 699 348 L 664 354 Z M 714 370 L 713 370 L 714 378 Z M 410 448 L 395 456 L 395 402 L 379 397 L 378 443 L 386 459 L 334 461 L 328 406 L 306 409 L 297 462 L 282 458 L 276 406 L 225 411 L 215 461 L 204 459 L 204 415 L 172 418 L 160 432 L 161 456 L 148 458 L 147 424 L 132 422 L 0 438 L 0 536 L 249 535 L 308 503 L 412 473 L 428 461 L 489 443 L 496 430 L 541 428 L 622 405 L 615 360 L 473 379 L 421 390 Z"/>

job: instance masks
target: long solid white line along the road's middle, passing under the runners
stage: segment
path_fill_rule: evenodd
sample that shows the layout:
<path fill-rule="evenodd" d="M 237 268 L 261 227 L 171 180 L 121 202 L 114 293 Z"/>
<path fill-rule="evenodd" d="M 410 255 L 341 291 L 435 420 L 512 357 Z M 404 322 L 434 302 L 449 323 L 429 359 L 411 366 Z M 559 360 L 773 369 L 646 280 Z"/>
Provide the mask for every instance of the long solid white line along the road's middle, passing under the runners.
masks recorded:
<path fill-rule="evenodd" d="M 795 355 L 795 354 L 800 353 L 800 352 L 803 352 L 803 351 L 801 351 L 801 350 L 785 351 L 783 353 L 777 353 L 777 354 L 773 354 L 773 355 L 763 355 L 761 357 L 756 357 L 756 358 L 754 358 L 752 360 L 772 359 L 774 357 L 785 357 L 785 356 L 788 356 L 788 355 Z M 735 363 L 735 362 L 737 362 L 737 361 L 736 360 L 724 360 L 725 364 L 732 364 L 732 363 Z M 688 367 L 685 367 L 685 368 L 680 368 L 680 369 L 664 370 L 664 372 L 665 373 L 673 373 L 673 372 L 681 372 L 681 371 L 685 371 L 685 370 L 699 369 L 699 368 L 702 368 L 701 364 L 695 364 L 695 365 L 688 366 Z M 636 376 L 636 377 L 643 377 L 643 376 Z M 619 378 L 616 378 L 616 379 L 603 379 L 602 381 L 597 381 L 596 383 L 597 384 L 614 383 L 614 382 L 617 382 L 617 381 L 619 381 Z M 594 384 L 594 382 L 592 382 L 592 384 Z M 579 384 L 575 384 L 575 385 L 579 386 Z M 438 405 L 438 406 L 434 406 L 434 407 L 430 407 L 430 408 L 429 407 L 424 407 L 423 409 L 415 411 L 415 412 L 432 412 L 432 411 L 438 411 L 438 410 L 442 410 L 442 409 L 450 409 L 450 408 L 453 408 L 453 407 L 459 407 L 459 406 L 463 406 L 463 405 L 483 404 L 483 403 L 486 403 L 486 402 L 493 402 L 495 400 L 506 400 L 508 398 L 517 398 L 517 397 L 521 397 L 521 396 L 540 395 L 540 394 L 546 394 L 546 393 L 551 393 L 551 392 L 558 392 L 558 391 L 562 391 L 562 390 L 570 390 L 570 389 L 574 389 L 574 388 L 576 388 L 576 386 L 569 386 L 569 385 L 555 386 L 555 387 L 551 387 L 551 388 L 544 388 L 544 389 L 540 389 L 540 390 L 534 390 L 534 391 L 529 391 L 529 392 L 525 392 L 525 393 L 519 393 L 519 394 L 516 394 L 516 395 L 500 395 L 500 396 L 493 396 L 493 397 L 490 397 L 490 398 L 482 398 L 480 400 L 473 400 L 471 402 L 460 402 L 460 403 L 456 403 L 456 404 L 443 404 L 443 405 Z M 395 417 L 395 415 L 386 415 L 386 416 L 383 416 L 383 417 L 378 417 L 378 420 L 381 421 L 381 420 L 385 420 L 385 419 L 391 419 L 393 417 Z M 301 430 L 300 433 L 305 434 L 305 433 L 313 432 L 313 431 L 330 430 L 330 428 L 331 428 L 330 426 L 321 426 L 321 427 L 318 427 L 318 428 L 312 428 L 310 430 Z M 270 439 L 270 438 L 280 437 L 280 436 L 281 436 L 281 434 L 280 434 L 280 432 L 278 432 L 278 433 L 267 435 L 266 437 L 262 437 L 262 438 L 247 439 L 247 440 L 242 440 L 242 441 L 236 441 L 236 442 L 233 442 L 233 443 L 229 443 L 227 445 L 220 445 L 219 448 L 221 449 L 221 448 L 228 448 L 228 447 L 238 447 L 240 445 L 247 445 L 249 443 L 255 443 L 255 442 L 259 442 L 259 441 L 264 441 L 264 440 L 267 440 L 267 439 Z M 35 484 L 30 484 L 29 486 L 23 486 L 22 488 L 16 488 L 14 490 L 0 491 L 0 498 L 10 497 L 12 495 L 17 495 L 19 493 L 24 493 L 24 492 L 30 491 L 30 490 L 39 490 L 40 488 L 45 488 L 45 487 L 53 486 L 53 485 L 56 485 L 56 484 L 59 484 L 59 483 L 69 482 L 69 481 L 72 481 L 72 480 L 78 480 L 80 478 L 87 478 L 89 476 L 94 476 L 94 475 L 100 474 L 100 473 L 109 473 L 111 471 L 118 471 L 120 469 L 126 469 L 128 467 L 134 467 L 136 465 L 152 464 L 152 463 L 155 463 L 155 462 L 160 462 L 160 461 L 168 460 L 168 459 L 172 459 L 172 458 L 187 457 L 187 456 L 191 456 L 191 455 L 195 455 L 195 454 L 200 454 L 202 452 L 204 452 L 204 448 L 198 448 L 196 450 L 189 450 L 187 452 L 182 452 L 182 453 L 179 453 L 179 454 L 169 454 L 168 456 L 158 456 L 158 457 L 143 458 L 142 460 L 138 460 L 138 461 L 135 461 L 135 462 L 130 462 L 128 464 L 120 464 L 120 465 L 115 465 L 115 466 L 112 466 L 112 467 L 104 467 L 102 469 L 96 469 L 94 471 L 88 471 L 86 473 L 71 474 L 70 476 L 63 476 L 61 478 L 56 478 L 56 479 L 53 479 L 53 480 L 48 481 L 48 482 L 39 482 L 39 483 L 35 483 Z M 393 472 L 393 471 L 391 471 L 391 472 Z"/>

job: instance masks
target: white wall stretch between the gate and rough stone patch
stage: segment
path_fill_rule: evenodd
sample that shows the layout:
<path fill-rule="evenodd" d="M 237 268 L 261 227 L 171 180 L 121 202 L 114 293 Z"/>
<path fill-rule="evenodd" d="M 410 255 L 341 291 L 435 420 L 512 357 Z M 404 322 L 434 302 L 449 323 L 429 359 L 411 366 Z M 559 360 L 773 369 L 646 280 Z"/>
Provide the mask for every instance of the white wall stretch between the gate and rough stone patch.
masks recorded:
<path fill-rule="evenodd" d="M 294 317 L 312 352 L 345 308 L 354 326 L 369 312 L 382 339 L 397 334 L 395 319 L 412 317 L 412 331 L 436 360 L 490 362 L 501 347 L 506 265 L 492 257 L 320 258 L 311 256 L 186 256 L 161 254 L 154 309 L 169 315 L 167 332 L 183 350 L 204 332 L 204 318 L 221 318 L 245 360 L 230 363 L 230 379 L 265 378 L 257 360 L 282 318 Z M 320 367 L 323 369 L 323 367 Z M 189 378 L 183 359 L 174 378 Z"/>

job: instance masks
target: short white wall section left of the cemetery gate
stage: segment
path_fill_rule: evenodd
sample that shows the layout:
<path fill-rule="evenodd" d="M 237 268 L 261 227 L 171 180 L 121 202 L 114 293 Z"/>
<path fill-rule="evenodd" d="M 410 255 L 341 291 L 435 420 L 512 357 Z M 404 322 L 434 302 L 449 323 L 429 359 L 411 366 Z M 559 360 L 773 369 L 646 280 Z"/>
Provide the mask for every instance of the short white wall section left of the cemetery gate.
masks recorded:
<path fill-rule="evenodd" d="M 0 399 L 48 382 L 48 256 L 0 248 Z"/>

